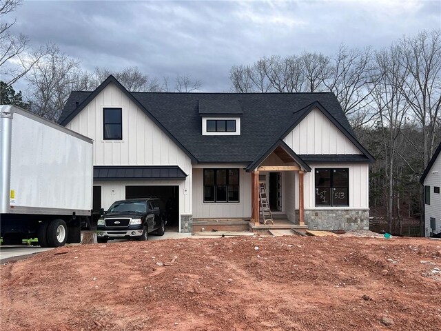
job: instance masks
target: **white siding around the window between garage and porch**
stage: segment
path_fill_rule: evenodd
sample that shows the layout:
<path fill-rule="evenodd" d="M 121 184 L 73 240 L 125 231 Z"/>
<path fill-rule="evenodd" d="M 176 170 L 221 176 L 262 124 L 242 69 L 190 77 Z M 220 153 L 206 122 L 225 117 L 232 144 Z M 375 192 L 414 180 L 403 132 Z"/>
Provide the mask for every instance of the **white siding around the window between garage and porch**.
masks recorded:
<path fill-rule="evenodd" d="M 237 168 L 225 164 L 205 166 L 205 168 Z M 245 166 L 243 167 L 245 168 Z M 239 170 L 239 202 L 232 203 L 204 203 L 203 168 L 193 169 L 193 217 L 209 218 L 249 218 L 251 216 L 251 174 Z"/>

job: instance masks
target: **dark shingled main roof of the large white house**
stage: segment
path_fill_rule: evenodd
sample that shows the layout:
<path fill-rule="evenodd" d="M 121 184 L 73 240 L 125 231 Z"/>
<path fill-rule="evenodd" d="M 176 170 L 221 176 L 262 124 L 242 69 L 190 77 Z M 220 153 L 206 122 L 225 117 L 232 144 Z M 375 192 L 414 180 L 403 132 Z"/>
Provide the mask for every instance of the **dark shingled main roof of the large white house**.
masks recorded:
<path fill-rule="evenodd" d="M 63 109 L 59 123 L 67 125 L 104 84 L 115 83 L 123 89 L 147 116 L 160 123 L 165 133 L 199 163 L 251 163 L 289 133 L 319 106 L 342 132 L 373 161 L 371 154 L 355 138 L 336 96 L 324 93 L 170 93 L 127 92 L 114 77 L 109 77 L 94 92 L 73 91 Z M 202 135 L 201 114 L 227 114 L 225 104 L 234 105 L 229 116 L 240 116 L 240 135 Z M 199 105 L 205 109 L 200 110 Z M 201 112 L 201 113 L 200 113 Z"/>

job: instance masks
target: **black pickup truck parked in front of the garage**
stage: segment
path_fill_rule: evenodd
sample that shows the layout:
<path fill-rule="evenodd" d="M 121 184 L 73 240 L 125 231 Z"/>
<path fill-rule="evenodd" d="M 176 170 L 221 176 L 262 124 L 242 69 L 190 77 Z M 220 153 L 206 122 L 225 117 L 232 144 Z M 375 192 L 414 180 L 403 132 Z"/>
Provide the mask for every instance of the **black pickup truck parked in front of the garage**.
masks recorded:
<path fill-rule="evenodd" d="M 114 202 L 99 218 L 96 239 L 106 243 L 110 239 L 145 241 L 149 233 L 163 236 L 165 219 L 158 199 L 129 199 Z"/>

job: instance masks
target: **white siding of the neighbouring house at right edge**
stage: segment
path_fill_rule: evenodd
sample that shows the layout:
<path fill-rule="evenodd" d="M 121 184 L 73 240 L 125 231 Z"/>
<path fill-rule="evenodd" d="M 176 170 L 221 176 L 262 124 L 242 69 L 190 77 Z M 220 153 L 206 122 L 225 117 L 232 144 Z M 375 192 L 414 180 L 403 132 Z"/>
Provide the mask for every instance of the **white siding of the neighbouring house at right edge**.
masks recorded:
<path fill-rule="evenodd" d="M 424 232 L 441 232 L 441 194 L 433 192 L 435 186 L 441 187 L 441 154 L 433 163 L 429 173 L 424 179 L 424 186 L 430 186 L 430 205 L 424 204 Z M 431 230 L 430 218 L 435 218 L 435 230 Z"/>

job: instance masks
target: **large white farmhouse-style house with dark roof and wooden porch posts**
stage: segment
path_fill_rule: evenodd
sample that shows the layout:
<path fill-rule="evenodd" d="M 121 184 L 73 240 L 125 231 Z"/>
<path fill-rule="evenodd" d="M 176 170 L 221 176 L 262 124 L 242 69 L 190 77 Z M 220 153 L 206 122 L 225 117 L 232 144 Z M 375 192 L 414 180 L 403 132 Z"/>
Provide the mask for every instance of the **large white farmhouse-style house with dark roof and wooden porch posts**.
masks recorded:
<path fill-rule="evenodd" d="M 258 227 L 265 183 L 273 213 L 296 225 L 369 226 L 374 160 L 329 92 L 128 92 L 110 76 L 73 91 L 59 123 L 94 140 L 95 210 L 154 195 L 180 232 Z"/>

